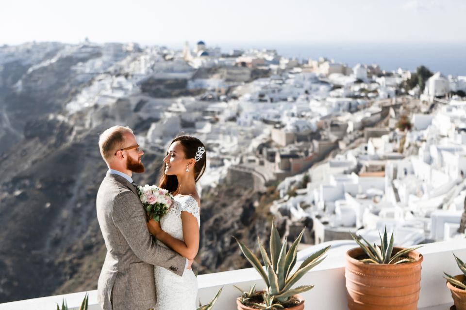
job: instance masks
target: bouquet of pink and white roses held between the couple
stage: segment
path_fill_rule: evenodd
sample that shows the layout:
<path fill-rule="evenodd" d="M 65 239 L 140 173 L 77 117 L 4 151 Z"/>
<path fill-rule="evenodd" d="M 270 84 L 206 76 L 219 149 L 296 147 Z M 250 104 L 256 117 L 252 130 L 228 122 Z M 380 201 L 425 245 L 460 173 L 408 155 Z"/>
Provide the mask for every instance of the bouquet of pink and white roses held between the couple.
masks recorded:
<path fill-rule="evenodd" d="M 137 186 L 137 194 L 149 217 L 155 221 L 166 215 L 173 203 L 173 196 L 168 190 L 155 185 Z"/>

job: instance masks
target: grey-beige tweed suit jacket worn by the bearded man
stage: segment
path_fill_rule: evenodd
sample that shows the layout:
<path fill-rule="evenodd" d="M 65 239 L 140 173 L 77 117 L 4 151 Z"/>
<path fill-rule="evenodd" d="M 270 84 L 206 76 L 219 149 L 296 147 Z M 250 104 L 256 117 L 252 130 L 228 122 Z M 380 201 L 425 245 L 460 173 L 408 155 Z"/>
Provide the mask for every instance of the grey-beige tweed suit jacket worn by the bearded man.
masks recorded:
<path fill-rule="evenodd" d="M 100 184 L 97 218 L 107 247 L 97 285 L 102 310 L 154 307 L 154 265 L 182 276 L 185 258 L 155 243 L 136 189 L 119 175 L 107 172 Z"/>

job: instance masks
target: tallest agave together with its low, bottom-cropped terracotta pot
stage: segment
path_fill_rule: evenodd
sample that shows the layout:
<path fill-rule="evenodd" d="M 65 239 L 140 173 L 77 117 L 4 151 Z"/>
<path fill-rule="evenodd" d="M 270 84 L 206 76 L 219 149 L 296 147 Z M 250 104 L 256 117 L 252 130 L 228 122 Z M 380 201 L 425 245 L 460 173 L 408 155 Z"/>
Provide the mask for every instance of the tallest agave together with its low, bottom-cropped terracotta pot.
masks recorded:
<path fill-rule="evenodd" d="M 296 288 L 292 287 L 309 270 L 324 260 L 324 258 L 321 257 L 330 248 L 329 246 L 315 252 L 306 258 L 295 272 L 292 272 L 296 265 L 296 253 L 298 252 L 298 245 L 301 241 L 304 230 L 305 228 L 301 231 L 298 238 L 296 238 L 287 251 L 286 239 L 282 244 L 278 230 L 272 222 L 272 231 L 270 233 L 270 255 L 267 254 L 260 239 L 257 238 L 265 268 L 262 267 L 257 256 L 254 255 L 254 253 L 252 253 L 252 251 L 241 241 L 236 239 L 236 242 L 241 248 L 244 256 L 261 275 L 267 286 L 265 291 L 256 292 L 253 287 L 249 292 L 244 292 L 243 295 L 238 297 L 236 300 L 238 310 L 304 309 L 304 299 L 299 294 L 309 291 L 314 287 L 314 285 L 303 285 Z"/>

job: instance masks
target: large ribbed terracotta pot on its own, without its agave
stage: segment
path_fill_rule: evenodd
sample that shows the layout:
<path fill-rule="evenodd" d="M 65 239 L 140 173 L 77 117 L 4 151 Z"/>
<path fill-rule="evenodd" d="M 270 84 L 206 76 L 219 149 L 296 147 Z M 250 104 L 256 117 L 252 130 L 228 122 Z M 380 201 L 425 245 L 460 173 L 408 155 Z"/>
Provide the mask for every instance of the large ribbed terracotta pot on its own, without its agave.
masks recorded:
<path fill-rule="evenodd" d="M 393 253 L 403 248 L 394 247 Z M 350 310 L 417 310 L 422 255 L 409 253 L 416 260 L 401 264 L 368 264 L 358 259 L 362 248 L 346 253 L 346 291 Z"/>

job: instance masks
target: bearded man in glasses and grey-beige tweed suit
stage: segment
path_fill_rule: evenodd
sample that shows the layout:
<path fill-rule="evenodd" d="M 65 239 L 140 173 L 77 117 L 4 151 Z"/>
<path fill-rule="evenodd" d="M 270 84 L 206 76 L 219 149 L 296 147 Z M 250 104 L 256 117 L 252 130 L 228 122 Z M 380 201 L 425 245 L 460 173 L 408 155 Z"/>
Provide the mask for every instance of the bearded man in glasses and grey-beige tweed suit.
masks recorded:
<path fill-rule="evenodd" d="M 144 172 L 141 151 L 129 127 L 114 126 L 99 137 L 109 168 L 97 193 L 97 218 L 107 255 L 97 285 L 102 310 L 147 310 L 155 306 L 154 265 L 182 276 L 187 261 L 158 246 L 147 230 L 132 172 Z"/>

